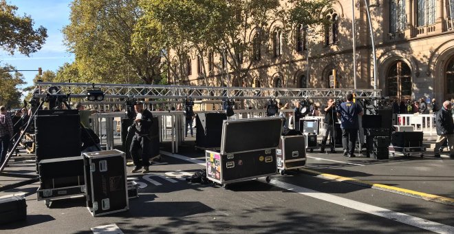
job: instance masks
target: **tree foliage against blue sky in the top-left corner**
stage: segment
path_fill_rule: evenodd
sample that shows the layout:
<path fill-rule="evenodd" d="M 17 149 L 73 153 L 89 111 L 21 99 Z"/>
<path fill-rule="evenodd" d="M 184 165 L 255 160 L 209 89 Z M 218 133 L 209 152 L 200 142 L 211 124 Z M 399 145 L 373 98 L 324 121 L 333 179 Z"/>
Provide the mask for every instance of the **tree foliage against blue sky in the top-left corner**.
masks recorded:
<path fill-rule="evenodd" d="M 41 50 L 45 43 L 47 30 L 40 26 L 34 30 L 34 22 L 28 15 L 19 17 L 17 6 L 8 5 L 6 0 L 0 0 L 0 47 L 9 54 L 19 51 L 30 54 Z"/>

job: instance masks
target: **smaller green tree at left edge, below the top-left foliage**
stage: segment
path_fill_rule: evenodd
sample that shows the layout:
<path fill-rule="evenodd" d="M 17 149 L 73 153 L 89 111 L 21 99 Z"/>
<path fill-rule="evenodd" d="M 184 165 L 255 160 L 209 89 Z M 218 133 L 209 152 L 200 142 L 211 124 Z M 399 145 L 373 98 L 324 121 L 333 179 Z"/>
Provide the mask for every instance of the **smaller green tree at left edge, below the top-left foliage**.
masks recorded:
<path fill-rule="evenodd" d="M 1 70 L 15 70 L 12 65 L 0 67 Z M 22 92 L 19 85 L 25 84 L 23 75 L 19 72 L 0 72 L 0 105 L 20 107 Z"/>

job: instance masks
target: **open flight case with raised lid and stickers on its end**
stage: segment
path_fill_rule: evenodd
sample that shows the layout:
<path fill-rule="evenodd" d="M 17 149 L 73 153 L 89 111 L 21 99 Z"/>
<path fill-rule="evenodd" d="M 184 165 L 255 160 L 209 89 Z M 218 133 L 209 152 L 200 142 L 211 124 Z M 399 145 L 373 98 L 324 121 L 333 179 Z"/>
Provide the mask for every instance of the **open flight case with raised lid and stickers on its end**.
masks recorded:
<path fill-rule="evenodd" d="M 222 184 L 266 177 L 277 173 L 276 148 L 283 118 L 224 120 L 221 151 L 206 150 L 206 177 Z"/>

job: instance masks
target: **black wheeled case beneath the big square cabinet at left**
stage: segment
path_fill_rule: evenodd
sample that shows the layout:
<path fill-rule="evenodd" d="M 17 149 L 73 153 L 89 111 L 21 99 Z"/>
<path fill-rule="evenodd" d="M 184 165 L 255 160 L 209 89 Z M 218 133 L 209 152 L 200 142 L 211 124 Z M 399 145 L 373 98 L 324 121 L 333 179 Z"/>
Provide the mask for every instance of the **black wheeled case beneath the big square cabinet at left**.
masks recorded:
<path fill-rule="evenodd" d="M 85 195 L 83 157 L 45 159 L 39 162 L 37 200 L 50 201 Z"/>

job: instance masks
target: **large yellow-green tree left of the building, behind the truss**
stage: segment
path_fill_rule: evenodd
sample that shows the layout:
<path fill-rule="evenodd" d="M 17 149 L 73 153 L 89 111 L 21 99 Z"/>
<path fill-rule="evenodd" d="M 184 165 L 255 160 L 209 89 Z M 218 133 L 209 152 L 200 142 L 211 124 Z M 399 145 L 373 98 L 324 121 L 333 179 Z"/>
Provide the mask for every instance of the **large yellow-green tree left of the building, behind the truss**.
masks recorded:
<path fill-rule="evenodd" d="M 71 23 L 63 29 L 63 34 L 69 51 L 76 55 L 81 79 L 95 83 L 129 80 L 147 84 L 160 80 L 159 54 L 150 52 L 147 46 L 132 50 L 131 35 L 141 14 L 138 1 L 133 0 L 72 3 Z"/>

